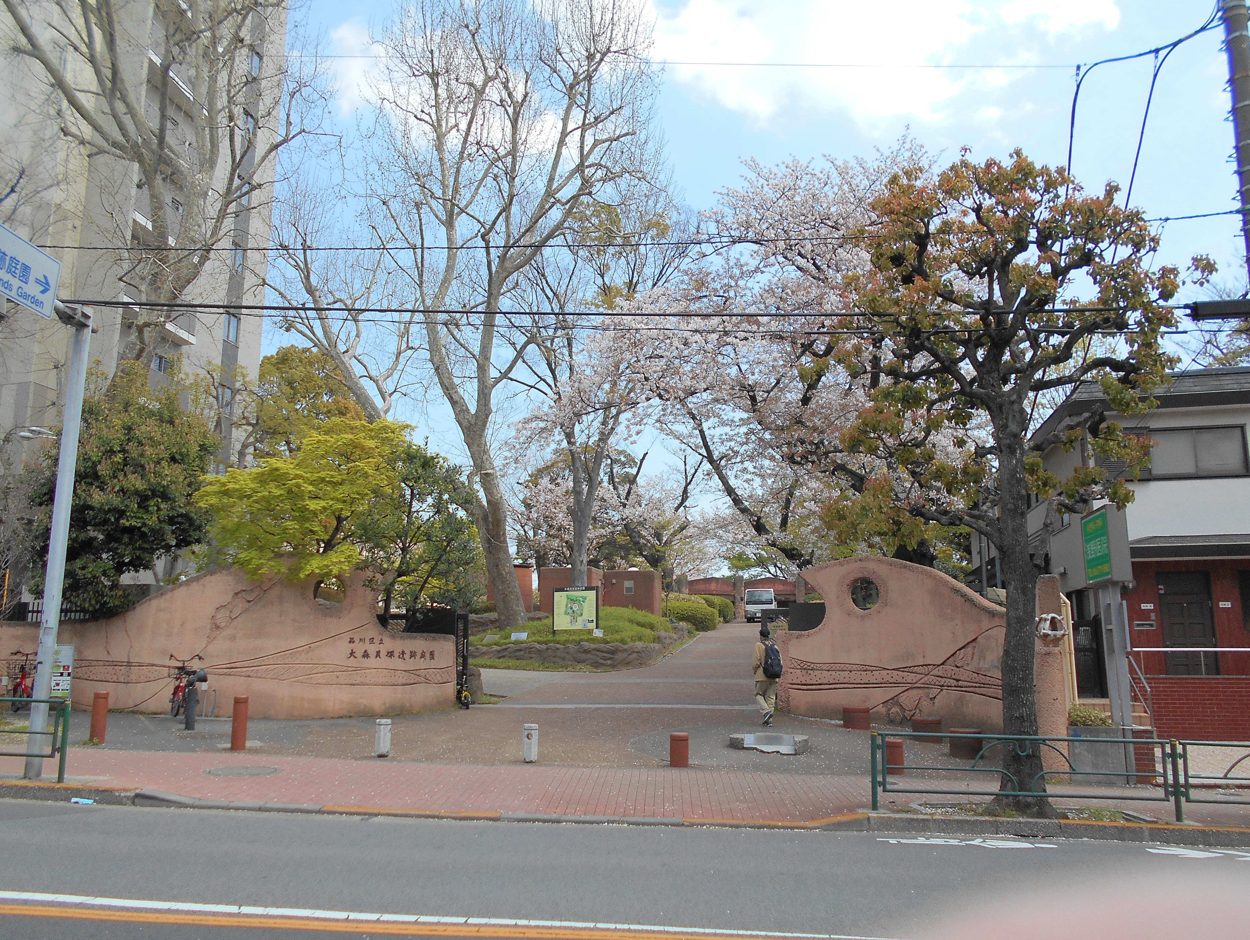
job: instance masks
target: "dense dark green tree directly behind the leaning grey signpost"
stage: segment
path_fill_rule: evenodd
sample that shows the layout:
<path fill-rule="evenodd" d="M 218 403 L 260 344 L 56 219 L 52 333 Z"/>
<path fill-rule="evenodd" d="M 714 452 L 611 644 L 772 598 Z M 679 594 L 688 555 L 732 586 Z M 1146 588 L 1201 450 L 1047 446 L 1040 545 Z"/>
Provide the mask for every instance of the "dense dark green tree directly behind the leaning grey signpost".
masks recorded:
<path fill-rule="evenodd" d="M 96 615 L 126 609 L 132 594 L 122 575 L 152 569 L 200 542 L 206 514 L 194 498 L 220 446 L 201 416 L 204 409 L 179 375 L 152 389 L 149 371 L 122 362 L 111 380 L 92 372 L 82 401 L 65 558 L 65 602 Z M 32 470 L 31 504 L 41 508 L 31 545 L 31 589 L 42 590 L 48 565 L 58 450 L 50 448 Z"/>

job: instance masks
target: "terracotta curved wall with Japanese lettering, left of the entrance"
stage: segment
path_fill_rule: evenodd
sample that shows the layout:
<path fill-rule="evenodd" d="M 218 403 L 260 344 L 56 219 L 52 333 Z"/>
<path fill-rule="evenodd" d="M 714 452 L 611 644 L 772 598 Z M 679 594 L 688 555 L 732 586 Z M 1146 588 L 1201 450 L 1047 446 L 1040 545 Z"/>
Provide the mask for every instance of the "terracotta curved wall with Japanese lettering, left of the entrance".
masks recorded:
<path fill-rule="evenodd" d="M 109 706 L 169 710 L 170 654 L 204 661 L 218 692 L 218 715 L 235 695 L 255 718 L 390 715 L 455 701 L 455 641 L 394 634 L 374 616 L 376 595 L 362 578 L 342 604 L 318 602 L 309 581 L 280 575 L 250 581 L 239 570 L 210 571 L 108 620 L 65 622 L 58 634 L 75 646 L 75 708 L 95 691 Z M 0 645 L 34 650 L 36 625 L 0 628 Z M 210 692 L 211 696 L 211 692 Z"/>

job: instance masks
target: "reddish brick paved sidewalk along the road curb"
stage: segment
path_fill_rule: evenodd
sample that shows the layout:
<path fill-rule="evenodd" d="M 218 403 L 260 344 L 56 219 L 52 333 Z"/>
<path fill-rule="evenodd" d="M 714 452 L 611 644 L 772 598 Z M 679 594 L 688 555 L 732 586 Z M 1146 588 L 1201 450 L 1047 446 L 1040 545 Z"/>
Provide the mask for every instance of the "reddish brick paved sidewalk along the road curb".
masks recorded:
<path fill-rule="evenodd" d="M 276 771 L 229 775 L 231 769 L 258 766 Z M 55 780 L 51 762 L 48 770 Z M 226 770 L 228 775 L 209 772 L 214 770 Z M 20 759 L 0 759 L 0 778 L 14 779 L 20 772 Z M 856 814 L 871 801 L 866 775 L 732 769 L 476 766 L 78 749 L 70 751 L 69 775 L 70 782 L 85 786 L 156 790 L 201 800 L 485 818 L 535 814 L 709 824 L 814 824 Z M 1062 805 L 1061 792 L 1054 795 Z M 922 799 L 888 794 L 881 808 L 901 810 L 910 800 Z M 1170 804 L 1109 799 L 1101 805 L 1146 812 L 1161 821 L 1171 819 Z M 1250 806 L 1190 805 L 1186 821 L 1248 826 Z"/>

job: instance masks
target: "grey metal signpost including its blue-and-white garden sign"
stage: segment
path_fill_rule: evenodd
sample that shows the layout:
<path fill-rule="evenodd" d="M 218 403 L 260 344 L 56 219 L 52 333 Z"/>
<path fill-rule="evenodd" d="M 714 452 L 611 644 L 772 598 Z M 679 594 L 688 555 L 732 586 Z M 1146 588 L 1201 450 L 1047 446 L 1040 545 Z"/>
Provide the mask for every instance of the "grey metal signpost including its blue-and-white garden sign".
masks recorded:
<path fill-rule="evenodd" d="M 44 575 L 44 612 L 39 624 L 39 651 L 35 655 L 35 682 L 30 705 L 30 735 L 26 739 L 26 780 L 44 775 L 44 741 L 48 736 L 48 699 L 52 692 L 56 669 L 56 630 L 61 620 L 61 589 L 65 581 L 65 549 L 70 534 L 70 508 L 74 500 L 74 469 L 78 464 L 79 425 L 82 420 L 82 390 L 86 388 L 88 348 L 91 344 L 91 312 L 69 308 L 56 300 L 61 264 L 24 238 L 0 225 L 0 295 L 21 304 L 40 316 L 56 316 L 74 328 L 61 448 L 56 462 L 56 499 L 52 502 L 52 531 L 48 540 L 48 570 Z M 72 655 L 72 651 L 71 651 Z M 58 676 L 65 680 L 66 676 Z M 42 699 L 42 701 L 40 701 Z"/>

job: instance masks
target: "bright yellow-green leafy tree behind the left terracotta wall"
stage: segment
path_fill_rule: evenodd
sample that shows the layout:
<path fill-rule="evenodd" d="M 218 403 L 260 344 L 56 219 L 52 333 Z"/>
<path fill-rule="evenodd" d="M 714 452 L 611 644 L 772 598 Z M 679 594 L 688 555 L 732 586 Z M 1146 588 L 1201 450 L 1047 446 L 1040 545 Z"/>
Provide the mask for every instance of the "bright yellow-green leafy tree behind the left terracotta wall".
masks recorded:
<path fill-rule="evenodd" d="M 252 578 L 286 570 L 318 584 L 360 564 L 356 522 L 398 485 L 405 426 L 332 418 L 308 431 L 291 456 L 226 470 L 196 502 L 212 514 L 212 554 Z"/>

